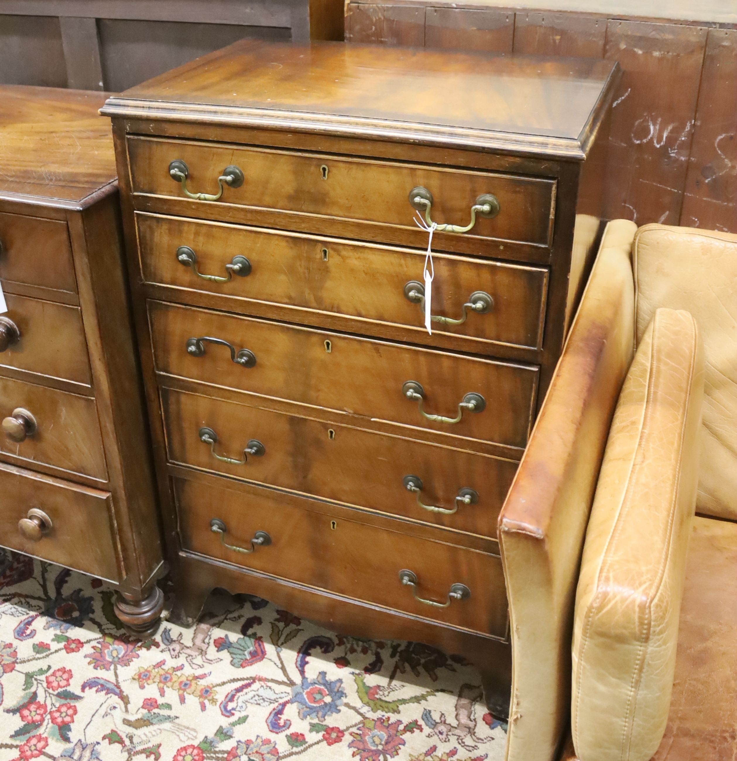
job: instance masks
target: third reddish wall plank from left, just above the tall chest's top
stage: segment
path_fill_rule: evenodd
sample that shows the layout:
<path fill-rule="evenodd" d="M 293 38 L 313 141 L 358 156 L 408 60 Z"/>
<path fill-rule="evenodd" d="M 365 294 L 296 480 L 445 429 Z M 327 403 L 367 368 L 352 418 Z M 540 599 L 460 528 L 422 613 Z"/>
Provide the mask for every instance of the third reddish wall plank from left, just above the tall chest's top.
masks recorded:
<path fill-rule="evenodd" d="M 606 19 L 564 13 L 518 13 L 514 52 L 529 56 L 603 58 Z"/>

